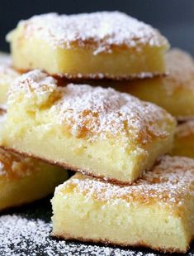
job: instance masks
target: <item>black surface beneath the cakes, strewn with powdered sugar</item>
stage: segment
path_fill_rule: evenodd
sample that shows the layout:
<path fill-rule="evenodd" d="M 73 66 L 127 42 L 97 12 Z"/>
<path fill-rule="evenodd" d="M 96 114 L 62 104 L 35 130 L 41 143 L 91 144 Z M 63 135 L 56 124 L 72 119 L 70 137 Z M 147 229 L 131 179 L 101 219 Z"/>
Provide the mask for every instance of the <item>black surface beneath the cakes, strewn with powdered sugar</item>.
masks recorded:
<path fill-rule="evenodd" d="M 40 240 L 38 244 L 35 244 L 33 235 L 28 233 L 27 225 L 22 229 L 18 228 L 18 221 L 15 221 L 14 229 L 17 230 L 15 236 L 17 239 L 17 245 L 15 243 L 6 244 L 2 243 L 1 238 L 3 237 L 3 232 L 5 233 L 5 237 L 12 238 L 12 235 L 7 232 L 7 221 L 2 221 L 2 218 L 8 216 L 8 220 L 11 218 L 22 217 L 22 219 L 26 219 L 27 221 L 31 221 L 32 224 L 37 225 L 36 221 L 42 221 L 45 224 L 45 228 L 41 228 L 41 232 L 37 231 L 37 235 L 40 236 Z M 52 215 L 50 198 L 45 200 L 40 200 L 34 204 L 27 205 L 25 207 L 21 207 L 15 210 L 9 210 L 4 212 L 3 215 L 0 216 L 0 255 L 116 255 L 116 256 L 159 256 L 159 255 L 169 255 L 169 254 L 159 254 L 149 249 L 121 249 L 116 247 L 108 247 L 104 245 L 94 245 L 94 244 L 86 244 L 86 243 L 77 243 L 77 242 L 65 242 L 57 239 L 52 239 L 50 237 L 50 217 Z M 32 225 L 31 224 L 31 225 Z M 43 226 L 44 226 L 43 225 Z M 19 227 L 19 226 L 18 226 Z M 32 229 L 35 229 L 35 226 L 32 226 Z M 37 225 L 37 229 L 39 229 L 39 225 Z M 45 229 L 45 230 L 44 230 Z M 4 231 L 3 231 L 4 230 Z M 24 234 L 21 234 L 25 230 Z M 12 232 L 12 231 L 11 231 Z M 12 232 L 13 233 L 13 232 Z M 22 239 L 21 239 L 22 236 Z M 27 244 L 27 246 L 26 246 Z M 142 254 L 141 254 L 142 253 Z M 177 256 L 178 254 L 172 254 L 173 256 Z M 184 254 L 187 256 L 194 255 L 194 244 L 192 245 L 192 249 Z"/>

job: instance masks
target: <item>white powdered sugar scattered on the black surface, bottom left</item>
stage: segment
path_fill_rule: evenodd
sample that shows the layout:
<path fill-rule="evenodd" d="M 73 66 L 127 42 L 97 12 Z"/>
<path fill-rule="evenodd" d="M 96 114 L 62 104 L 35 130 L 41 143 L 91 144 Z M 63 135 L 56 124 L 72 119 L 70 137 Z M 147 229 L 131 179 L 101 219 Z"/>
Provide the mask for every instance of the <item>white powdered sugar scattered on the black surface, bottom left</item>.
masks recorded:
<path fill-rule="evenodd" d="M 51 223 L 26 215 L 0 216 L 0 254 L 7 256 L 156 256 L 130 249 L 66 242 L 50 237 Z"/>

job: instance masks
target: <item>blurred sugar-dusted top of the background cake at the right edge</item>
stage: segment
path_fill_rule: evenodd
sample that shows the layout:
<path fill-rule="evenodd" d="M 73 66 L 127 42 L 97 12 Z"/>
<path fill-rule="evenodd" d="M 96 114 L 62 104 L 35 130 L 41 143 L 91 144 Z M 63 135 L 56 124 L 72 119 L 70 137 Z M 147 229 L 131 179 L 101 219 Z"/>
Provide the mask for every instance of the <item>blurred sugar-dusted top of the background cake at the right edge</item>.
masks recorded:
<path fill-rule="evenodd" d="M 168 77 L 165 80 L 170 82 L 165 84 L 165 88 L 171 94 L 177 89 L 194 89 L 194 60 L 187 52 L 173 49 L 166 55 Z"/>

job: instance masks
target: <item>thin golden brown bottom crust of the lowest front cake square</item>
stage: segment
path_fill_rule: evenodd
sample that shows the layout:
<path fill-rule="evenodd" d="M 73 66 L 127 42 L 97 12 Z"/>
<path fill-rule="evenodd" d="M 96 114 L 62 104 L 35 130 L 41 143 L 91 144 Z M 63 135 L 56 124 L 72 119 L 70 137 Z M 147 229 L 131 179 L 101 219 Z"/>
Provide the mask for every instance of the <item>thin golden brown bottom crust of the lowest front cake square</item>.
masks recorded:
<path fill-rule="evenodd" d="M 88 242 L 88 243 L 93 243 L 93 244 L 111 244 L 111 245 L 115 245 L 115 246 L 123 246 L 123 247 L 144 247 L 144 248 L 149 248 L 149 249 L 154 249 L 157 250 L 161 253 L 169 253 L 169 254 L 173 254 L 173 253 L 177 253 L 177 254 L 185 254 L 187 252 L 187 250 L 190 248 L 189 246 L 187 247 L 186 250 L 179 250 L 179 249 L 174 249 L 174 248 L 168 248 L 165 249 L 163 247 L 154 247 L 150 244 L 146 244 L 144 241 L 140 241 L 137 242 L 135 244 L 121 244 L 121 243 L 112 243 L 111 241 L 107 240 L 107 239 L 84 239 L 83 237 L 78 237 L 78 238 L 73 238 L 71 235 L 69 234 L 54 234 L 51 233 L 51 235 L 55 238 L 58 239 L 66 239 L 66 240 L 72 240 L 72 241 L 81 241 L 81 242 Z M 189 244 L 192 244 L 192 240 L 190 241 Z"/>

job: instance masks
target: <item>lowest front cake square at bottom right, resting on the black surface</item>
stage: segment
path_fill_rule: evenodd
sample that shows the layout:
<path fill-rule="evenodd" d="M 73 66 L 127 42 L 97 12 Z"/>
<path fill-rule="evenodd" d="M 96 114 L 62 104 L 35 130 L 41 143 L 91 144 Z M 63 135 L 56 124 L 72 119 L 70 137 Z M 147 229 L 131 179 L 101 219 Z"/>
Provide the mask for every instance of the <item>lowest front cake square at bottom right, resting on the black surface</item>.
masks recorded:
<path fill-rule="evenodd" d="M 194 160 L 162 157 L 131 186 L 76 174 L 56 188 L 57 238 L 185 253 L 194 238 Z"/>

